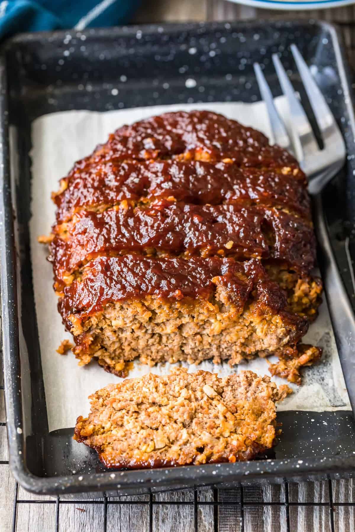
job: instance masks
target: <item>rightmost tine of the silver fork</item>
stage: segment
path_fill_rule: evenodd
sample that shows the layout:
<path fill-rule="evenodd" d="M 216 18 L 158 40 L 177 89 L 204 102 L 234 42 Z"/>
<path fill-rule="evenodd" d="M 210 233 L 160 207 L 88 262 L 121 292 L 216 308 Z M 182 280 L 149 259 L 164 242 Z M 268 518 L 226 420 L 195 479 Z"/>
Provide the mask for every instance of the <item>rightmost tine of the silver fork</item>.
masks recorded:
<path fill-rule="evenodd" d="M 313 113 L 315 113 L 319 129 L 321 132 L 324 132 L 335 123 L 333 114 L 295 44 L 291 45 L 291 51 L 297 68 L 300 72 L 300 76 L 303 81 L 304 88 L 306 89 L 309 102 L 312 106 Z"/>

